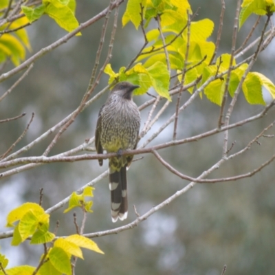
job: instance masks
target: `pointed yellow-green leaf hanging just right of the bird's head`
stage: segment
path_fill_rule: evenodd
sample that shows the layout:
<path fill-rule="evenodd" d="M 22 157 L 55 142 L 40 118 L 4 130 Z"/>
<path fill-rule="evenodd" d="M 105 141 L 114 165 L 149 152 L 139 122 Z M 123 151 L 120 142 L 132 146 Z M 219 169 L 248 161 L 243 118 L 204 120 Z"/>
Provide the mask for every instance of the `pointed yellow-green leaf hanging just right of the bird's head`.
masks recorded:
<path fill-rule="evenodd" d="M 169 95 L 169 80 L 170 75 L 164 63 L 157 61 L 154 65 L 147 68 L 148 75 L 150 76 L 152 85 L 159 94 L 168 100 L 171 100 Z"/>

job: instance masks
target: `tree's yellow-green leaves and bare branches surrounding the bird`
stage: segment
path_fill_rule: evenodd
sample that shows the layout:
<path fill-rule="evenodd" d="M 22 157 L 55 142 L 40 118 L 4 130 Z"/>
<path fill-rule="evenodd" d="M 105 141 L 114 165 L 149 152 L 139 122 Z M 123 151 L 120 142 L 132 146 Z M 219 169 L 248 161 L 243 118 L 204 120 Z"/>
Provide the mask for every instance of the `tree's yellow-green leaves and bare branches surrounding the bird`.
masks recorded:
<path fill-rule="evenodd" d="M 34 3 L 32 3 L 34 2 Z M 93 197 L 93 189 L 91 186 L 94 182 L 100 180 L 107 175 L 103 173 L 101 177 L 95 179 L 91 184 L 87 184 L 72 192 L 72 195 L 63 199 L 55 206 L 48 210 L 44 210 L 40 204 L 26 202 L 12 210 L 7 217 L 7 227 L 12 228 L 11 232 L 3 232 L 0 234 L 1 238 L 12 237 L 12 245 L 20 245 L 24 241 L 30 241 L 30 245 L 43 245 L 44 252 L 41 255 L 41 260 L 36 267 L 23 265 L 19 267 L 8 268 L 8 259 L 3 254 L 0 254 L 0 274 L 74 274 L 74 266 L 76 259 L 83 259 L 81 248 L 87 248 L 94 252 L 103 253 L 98 245 L 91 239 L 94 236 L 103 236 L 104 234 L 118 233 L 144 221 L 154 212 L 166 206 L 170 201 L 176 199 L 184 194 L 196 183 L 213 183 L 219 181 L 232 181 L 241 179 L 243 177 L 250 177 L 265 166 L 270 164 L 275 156 L 265 160 L 261 166 L 252 169 L 249 173 L 243 175 L 230 175 L 229 177 L 209 179 L 207 176 L 213 170 L 219 168 L 221 164 L 233 159 L 238 155 L 245 153 L 250 149 L 250 146 L 258 142 L 260 137 L 264 137 L 266 132 L 270 130 L 274 122 L 269 126 L 262 129 L 259 135 L 256 135 L 251 141 L 236 153 L 230 153 L 231 147 L 228 144 L 228 135 L 230 129 L 237 126 L 246 124 L 248 122 L 261 119 L 270 111 L 274 105 L 275 99 L 275 85 L 272 81 L 260 72 L 252 72 L 254 65 L 259 54 L 265 50 L 267 45 L 270 44 L 274 38 L 274 27 L 271 26 L 268 30 L 270 18 L 275 11 L 274 1 L 272 0 L 247 0 L 243 1 L 236 8 L 236 20 L 234 22 L 234 32 L 232 37 L 231 52 L 223 53 L 217 56 L 219 50 L 219 41 L 221 39 L 221 26 L 217 33 L 216 43 L 212 42 L 210 38 L 214 30 L 214 23 L 210 19 L 201 19 L 195 21 L 196 12 L 192 11 L 190 3 L 187 0 L 129 0 L 126 2 L 126 10 L 122 16 L 122 26 L 128 23 L 133 23 L 135 31 L 142 32 L 144 45 L 140 51 L 133 57 L 133 60 L 124 67 L 120 67 L 118 72 L 114 72 L 111 67 L 111 51 L 113 43 L 115 43 L 115 29 L 117 28 L 118 21 L 118 8 L 122 1 L 111 1 L 109 6 L 97 14 L 94 18 L 85 23 L 79 24 L 75 17 L 76 1 L 75 0 L 43 0 L 41 3 L 36 1 L 1 1 L 0 3 L 0 63 L 3 65 L 12 61 L 14 68 L 9 69 L 7 72 L 1 72 L 0 81 L 6 80 L 14 74 L 27 69 L 23 76 L 19 78 L 18 85 L 21 79 L 27 76 L 32 64 L 47 52 L 52 52 L 55 47 L 65 43 L 68 39 L 74 36 L 79 36 L 80 31 L 92 25 L 100 18 L 104 17 L 102 25 L 102 36 L 100 38 L 100 45 L 96 54 L 96 63 L 91 73 L 89 83 L 87 83 L 87 91 L 84 93 L 83 100 L 76 107 L 67 118 L 49 129 L 45 134 L 37 137 L 36 140 L 27 146 L 18 149 L 15 153 L 11 153 L 14 146 L 23 138 L 25 132 L 28 131 L 32 120 L 28 124 L 24 133 L 19 137 L 17 142 L 14 142 L 10 148 L 1 155 L 0 168 L 7 168 L 1 177 L 9 177 L 14 173 L 23 172 L 29 168 L 47 163 L 54 162 L 76 162 L 83 159 L 106 159 L 111 157 L 108 155 L 96 155 L 94 153 L 87 153 L 83 155 L 75 155 L 76 153 L 86 150 L 89 151 L 89 146 L 94 142 L 94 138 L 87 140 L 84 144 L 72 148 L 69 151 L 48 156 L 56 142 L 60 139 L 61 135 L 69 128 L 74 122 L 76 116 L 83 111 L 89 104 L 93 103 L 99 96 L 104 94 L 109 87 L 114 83 L 120 81 L 129 81 L 133 84 L 140 85 L 140 88 L 135 91 L 135 95 L 139 96 L 146 94 L 148 89 L 153 88 L 157 96 L 153 96 L 140 107 L 144 109 L 152 105 L 151 111 L 148 113 L 144 128 L 140 133 L 140 137 L 144 137 L 152 128 L 153 124 L 158 120 L 159 116 L 163 114 L 164 110 L 170 104 L 175 102 L 175 113 L 168 118 L 168 120 L 155 132 L 153 135 L 147 137 L 146 142 L 142 144 L 135 151 L 127 151 L 122 154 L 142 154 L 151 153 L 155 156 L 164 167 L 170 170 L 171 173 L 177 175 L 181 179 L 186 179 L 190 183 L 176 192 L 174 195 L 168 197 L 159 205 L 145 214 L 137 217 L 128 225 L 124 225 L 115 230 L 107 230 L 100 233 L 84 234 L 85 220 L 91 210 L 93 202 L 87 200 Z M 221 1 L 224 5 L 224 2 Z M 111 12 L 114 12 L 114 23 L 111 30 L 111 39 L 109 43 L 109 52 L 102 64 L 100 64 L 100 54 L 102 52 L 102 44 L 106 35 L 107 23 Z M 223 14 L 223 13 L 221 13 Z M 251 34 L 248 34 L 248 39 L 236 49 L 236 36 L 239 28 L 243 26 L 245 21 L 251 14 L 257 14 L 264 17 L 265 24 L 261 36 L 256 41 L 248 43 Z M 41 49 L 36 54 L 32 54 L 29 58 L 25 59 L 26 51 L 31 52 L 30 41 L 28 38 L 28 25 L 35 23 L 41 19 L 42 15 L 46 15 L 52 19 L 64 30 L 69 32 L 63 38 L 52 43 L 47 48 Z M 221 16 L 221 23 L 223 16 Z M 213 39 L 212 39 L 213 40 Z M 245 58 L 243 53 L 247 53 L 250 48 L 254 47 L 252 55 Z M 2 67 L 3 70 L 4 67 Z M 109 76 L 108 86 L 102 91 L 98 92 L 94 98 L 90 98 L 92 92 L 96 89 L 98 83 L 102 78 L 102 74 Z M 265 102 L 263 98 L 263 87 L 270 94 L 272 101 Z M 190 93 L 190 98 L 181 104 L 181 95 L 184 91 Z M 264 105 L 263 109 L 257 115 L 250 118 L 239 120 L 238 122 L 230 122 L 230 116 L 234 109 L 234 104 L 243 92 L 245 100 L 248 104 L 261 104 Z M 7 91 L 1 96 L 0 101 L 10 94 Z M 217 104 L 220 107 L 220 114 L 217 116 L 217 127 L 210 129 L 205 133 L 194 135 L 186 139 L 177 138 L 178 117 L 181 111 L 184 111 L 188 104 L 192 103 L 197 96 L 206 97 L 210 102 Z M 157 104 L 164 102 L 162 109 L 157 112 L 155 117 L 152 117 Z M 227 102 L 229 102 L 227 104 Z M 180 105 L 181 104 L 181 105 Z M 9 122 L 10 120 L 18 119 L 23 115 L 16 118 L 10 118 L 1 122 Z M 32 117 L 33 118 L 33 117 Z M 171 140 L 169 142 L 160 143 L 155 146 L 148 147 L 147 145 L 155 139 L 157 135 L 162 133 L 162 130 L 173 123 L 174 129 L 171 133 Z M 54 139 L 45 149 L 43 155 L 39 157 L 19 157 L 21 153 L 29 151 L 32 146 L 38 144 L 50 133 L 58 130 Z M 206 172 L 197 177 L 184 175 L 170 166 L 164 158 L 159 155 L 158 150 L 168 148 L 170 146 L 177 146 L 194 140 L 200 140 L 204 137 L 212 136 L 214 134 L 224 132 L 224 142 L 222 147 L 222 157 L 218 162 L 212 164 Z M 19 166 L 19 170 L 13 168 Z M 76 225 L 76 233 L 69 236 L 57 236 L 56 232 L 50 232 L 50 214 L 61 208 L 65 203 L 68 206 L 64 212 L 69 212 L 74 208 L 83 210 L 83 223 L 81 228 Z"/>

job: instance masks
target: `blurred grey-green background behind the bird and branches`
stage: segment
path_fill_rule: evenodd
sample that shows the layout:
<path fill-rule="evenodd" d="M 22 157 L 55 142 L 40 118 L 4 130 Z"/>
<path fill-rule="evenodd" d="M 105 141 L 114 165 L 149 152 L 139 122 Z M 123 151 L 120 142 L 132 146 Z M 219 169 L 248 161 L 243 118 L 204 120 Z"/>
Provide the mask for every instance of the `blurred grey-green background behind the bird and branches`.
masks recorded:
<path fill-rule="evenodd" d="M 217 37 L 219 0 L 190 0 L 192 11 L 198 10 L 199 19 L 209 18 L 215 28 L 212 41 Z M 226 3 L 227 2 L 227 3 Z M 230 52 L 236 1 L 225 1 L 225 17 L 219 54 Z M 108 1 L 78 1 L 76 17 L 84 22 L 98 14 L 108 5 Z M 126 3 L 120 7 L 120 18 Z M 238 34 L 238 45 L 250 31 L 256 17 L 249 19 Z M 25 129 L 32 112 L 34 122 L 17 148 L 32 142 L 36 137 L 54 126 L 78 106 L 87 89 L 91 69 L 94 66 L 96 51 L 100 39 L 103 19 L 83 30 L 82 36 L 74 37 L 65 45 L 43 56 L 34 64 L 28 78 L 1 102 L 1 119 L 26 112 L 21 120 L 1 124 L 1 152 L 17 140 Z M 261 34 L 264 19 L 253 38 Z M 108 34 L 111 32 L 110 21 Z M 28 28 L 33 53 L 61 38 L 65 32 L 47 17 L 41 18 Z M 109 36 L 107 36 L 109 37 Z M 106 39 L 108 41 L 108 39 Z M 143 44 L 141 30 L 136 31 L 129 24 L 122 28 L 121 20 L 115 34 L 113 58 L 114 71 L 128 65 Z M 104 47 L 102 62 L 107 52 L 108 42 Z M 253 71 L 261 72 L 275 83 L 274 43 L 260 55 Z M 1 83 L 1 94 L 5 92 L 19 76 Z M 107 85 L 107 76 L 103 76 L 97 91 Z M 181 103 L 190 94 L 183 95 Z M 62 135 L 51 154 L 61 153 L 85 142 L 94 136 L 96 120 L 100 106 L 107 98 L 102 96 L 80 113 L 74 124 Z M 137 104 L 148 100 L 147 95 L 135 98 Z M 268 100 L 268 98 L 267 98 Z M 175 112 L 175 99 L 157 122 L 155 129 Z M 164 104 L 164 102 L 162 102 Z M 251 106 L 243 96 L 236 104 L 232 122 L 248 118 L 259 113 L 263 107 Z M 149 109 L 142 111 L 142 126 Z M 274 119 L 274 109 L 263 120 L 255 121 L 230 132 L 229 142 L 236 142 L 232 153 L 243 148 L 252 138 Z M 179 138 L 202 133 L 217 125 L 219 107 L 206 98 L 197 98 L 179 119 Z M 152 144 L 171 140 L 173 126 L 163 131 Z M 150 133 L 146 137 L 150 136 Z M 269 132 L 274 134 L 274 129 Z M 52 135 L 54 137 L 54 135 Z M 52 138 L 51 137 L 51 138 Z M 145 137 L 145 139 L 146 139 Z M 40 155 L 51 138 L 32 148 L 27 155 Z M 144 139 L 144 140 L 145 140 Z M 197 176 L 217 162 L 222 153 L 223 134 L 208 137 L 199 142 L 166 148 L 159 153 L 182 173 Z M 227 177 L 247 173 L 258 167 L 274 154 L 274 140 L 261 138 L 260 144 L 253 144 L 250 151 L 221 166 L 210 177 Z M 140 142 L 142 144 L 142 141 Z M 97 161 L 50 164 L 39 166 L 1 179 L 0 186 L 0 228 L 7 230 L 5 217 L 16 206 L 25 201 L 39 202 L 39 189 L 44 189 L 43 207 L 49 208 L 74 190 L 87 184 L 107 168 Z M 159 274 L 159 275 L 219 275 L 223 265 L 230 275 L 274 274 L 275 270 L 275 169 L 270 164 L 254 177 L 239 181 L 197 184 L 159 212 L 132 230 L 120 234 L 102 236 L 94 239 L 104 255 L 85 251 L 85 261 L 78 260 L 76 274 Z M 134 162 L 128 171 L 129 182 L 129 218 L 118 223 L 111 222 L 110 194 L 108 179 L 96 184 L 94 192 L 94 213 L 89 214 L 85 232 L 96 232 L 124 225 L 135 219 L 133 204 L 137 212 L 144 214 L 153 206 L 173 195 L 188 184 L 166 170 L 152 155 L 144 155 L 142 160 Z M 62 208 L 51 216 L 52 230 L 56 221 L 60 223 L 61 235 L 75 232 L 73 212 L 63 214 Z M 82 213 L 77 212 L 80 223 Z M 20 245 L 10 248 L 10 239 L 1 240 L 1 253 L 10 259 L 9 267 L 19 264 L 37 265 L 43 246 Z"/>

